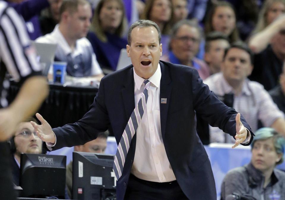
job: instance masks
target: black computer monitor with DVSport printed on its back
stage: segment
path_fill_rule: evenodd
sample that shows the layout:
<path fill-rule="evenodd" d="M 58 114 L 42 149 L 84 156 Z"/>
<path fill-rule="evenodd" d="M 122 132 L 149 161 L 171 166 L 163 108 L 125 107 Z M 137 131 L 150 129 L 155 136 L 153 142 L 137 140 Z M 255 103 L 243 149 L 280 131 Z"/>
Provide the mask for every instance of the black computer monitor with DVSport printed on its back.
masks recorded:
<path fill-rule="evenodd" d="M 65 155 L 21 154 L 21 197 L 65 199 L 65 182 Z"/>

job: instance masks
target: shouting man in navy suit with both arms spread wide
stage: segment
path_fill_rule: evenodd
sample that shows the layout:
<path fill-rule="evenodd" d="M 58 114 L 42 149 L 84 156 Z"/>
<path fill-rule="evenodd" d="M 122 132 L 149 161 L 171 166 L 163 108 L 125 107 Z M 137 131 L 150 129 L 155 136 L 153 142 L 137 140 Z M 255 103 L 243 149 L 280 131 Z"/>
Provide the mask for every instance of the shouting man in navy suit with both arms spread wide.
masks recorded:
<path fill-rule="evenodd" d="M 119 144 L 128 120 L 151 82 L 139 126 L 117 180 L 117 199 L 216 199 L 208 155 L 196 133 L 195 115 L 249 145 L 250 126 L 224 105 L 191 67 L 159 61 L 161 34 L 149 20 L 129 29 L 127 53 L 132 65 L 104 77 L 90 110 L 74 124 L 51 129 L 32 123 L 50 150 L 84 144 L 113 129 Z"/>

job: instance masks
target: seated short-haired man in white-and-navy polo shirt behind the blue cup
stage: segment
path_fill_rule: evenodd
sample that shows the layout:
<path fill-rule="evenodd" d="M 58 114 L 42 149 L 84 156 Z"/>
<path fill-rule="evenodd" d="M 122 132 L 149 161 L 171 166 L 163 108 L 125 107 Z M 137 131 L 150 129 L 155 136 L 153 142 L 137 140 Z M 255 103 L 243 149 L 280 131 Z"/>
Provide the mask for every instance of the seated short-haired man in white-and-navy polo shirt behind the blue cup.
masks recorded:
<path fill-rule="evenodd" d="M 96 61 L 93 48 L 85 38 L 91 18 L 90 4 L 85 0 L 64 0 L 60 8 L 60 22 L 53 32 L 36 41 L 56 43 L 55 61 L 67 62 L 67 75 L 73 77 L 104 76 Z M 52 69 L 50 70 L 52 72 Z"/>

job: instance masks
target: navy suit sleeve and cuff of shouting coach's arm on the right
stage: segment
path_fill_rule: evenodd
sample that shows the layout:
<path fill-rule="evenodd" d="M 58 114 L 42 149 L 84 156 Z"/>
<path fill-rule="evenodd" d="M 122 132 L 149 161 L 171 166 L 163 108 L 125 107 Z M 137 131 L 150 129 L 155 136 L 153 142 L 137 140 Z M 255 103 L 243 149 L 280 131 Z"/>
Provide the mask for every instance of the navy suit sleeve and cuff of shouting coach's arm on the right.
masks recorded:
<path fill-rule="evenodd" d="M 192 73 L 192 93 L 194 99 L 194 109 L 197 114 L 206 120 L 211 126 L 219 127 L 225 133 L 235 136 L 235 117 L 238 112 L 235 109 L 227 107 L 221 102 L 216 95 L 210 91 L 208 85 L 204 84 L 199 77 L 197 70 L 193 69 Z M 251 127 L 248 125 L 243 116 L 240 116 L 243 125 L 251 132 Z M 253 137 L 247 145 L 250 145 Z"/>

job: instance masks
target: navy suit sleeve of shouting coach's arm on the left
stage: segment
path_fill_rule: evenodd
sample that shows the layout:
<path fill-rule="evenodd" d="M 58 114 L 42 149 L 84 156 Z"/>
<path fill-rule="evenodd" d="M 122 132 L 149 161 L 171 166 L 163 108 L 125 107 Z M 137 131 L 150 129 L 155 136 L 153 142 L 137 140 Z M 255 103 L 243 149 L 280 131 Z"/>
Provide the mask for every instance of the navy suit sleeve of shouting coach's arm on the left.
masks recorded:
<path fill-rule="evenodd" d="M 83 145 L 88 141 L 96 139 L 99 132 L 104 132 L 108 129 L 110 120 L 104 96 L 104 79 L 102 79 L 94 102 L 83 118 L 74 124 L 53 128 L 56 134 L 56 145 L 53 147 L 53 150 Z"/>

